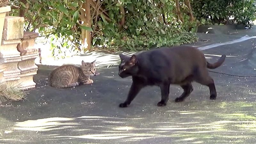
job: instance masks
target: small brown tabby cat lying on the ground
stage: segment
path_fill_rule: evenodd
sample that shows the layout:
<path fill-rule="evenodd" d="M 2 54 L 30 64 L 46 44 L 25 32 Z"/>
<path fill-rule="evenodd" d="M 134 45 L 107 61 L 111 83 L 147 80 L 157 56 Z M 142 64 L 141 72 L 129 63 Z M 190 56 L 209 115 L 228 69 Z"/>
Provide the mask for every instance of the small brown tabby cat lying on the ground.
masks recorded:
<path fill-rule="evenodd" d="M 80 84 L 92 84 L 93 76 L 96 72 L 95 61 L 92 63 L 82 61 L 80 67 L 74 65 L 62 65 L 54 69 L 48 78 L 49 85 L 56 88 L 68 88 Z"/>

